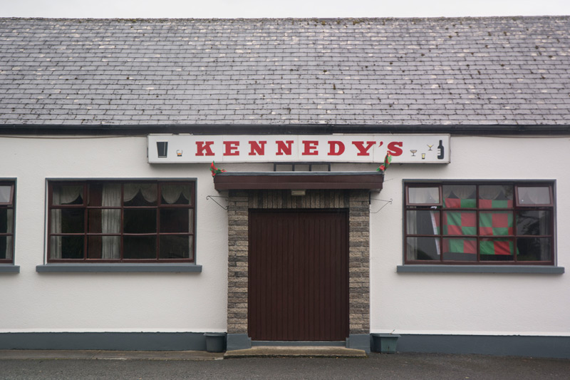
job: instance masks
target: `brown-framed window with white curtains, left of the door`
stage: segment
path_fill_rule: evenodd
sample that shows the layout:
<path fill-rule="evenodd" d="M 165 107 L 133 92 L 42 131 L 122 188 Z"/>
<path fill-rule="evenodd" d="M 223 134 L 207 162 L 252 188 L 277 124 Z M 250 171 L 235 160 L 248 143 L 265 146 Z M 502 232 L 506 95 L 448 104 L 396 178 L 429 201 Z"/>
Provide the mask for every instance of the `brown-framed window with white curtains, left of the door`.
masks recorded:
<path fill-rule="evenodd" d="M 48 197 L 48 262 L 194 261 L 194 182 L 50 182 Z"/>

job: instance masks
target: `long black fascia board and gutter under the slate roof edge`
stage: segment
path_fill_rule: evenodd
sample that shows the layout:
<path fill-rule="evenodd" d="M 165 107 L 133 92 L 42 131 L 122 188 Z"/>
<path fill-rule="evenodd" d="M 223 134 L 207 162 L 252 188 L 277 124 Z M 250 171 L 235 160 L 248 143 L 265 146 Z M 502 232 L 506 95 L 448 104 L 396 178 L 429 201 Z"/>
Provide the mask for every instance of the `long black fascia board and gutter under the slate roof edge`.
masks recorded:
<path fill-rule="evenodd" d="M 450 135 L 570 135 L 570 125 L 363 125 L 363 124 L 3 124 L 4 135 L 329 135 L 434 133 Z"/>

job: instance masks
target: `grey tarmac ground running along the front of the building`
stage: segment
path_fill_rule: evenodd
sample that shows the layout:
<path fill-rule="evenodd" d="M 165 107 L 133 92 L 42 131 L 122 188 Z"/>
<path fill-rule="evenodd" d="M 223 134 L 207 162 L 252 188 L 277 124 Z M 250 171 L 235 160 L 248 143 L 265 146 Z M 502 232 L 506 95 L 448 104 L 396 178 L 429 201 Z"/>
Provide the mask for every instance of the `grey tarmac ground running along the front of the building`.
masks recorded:
<path fill-rule="evenodd" d="M 570 379 L 568 359 L 515 356 L 371 353 L 366 359 L 222 360 L 222 354 L 199 351 L 81 352 L 0 351 L 0 379 Z"/>

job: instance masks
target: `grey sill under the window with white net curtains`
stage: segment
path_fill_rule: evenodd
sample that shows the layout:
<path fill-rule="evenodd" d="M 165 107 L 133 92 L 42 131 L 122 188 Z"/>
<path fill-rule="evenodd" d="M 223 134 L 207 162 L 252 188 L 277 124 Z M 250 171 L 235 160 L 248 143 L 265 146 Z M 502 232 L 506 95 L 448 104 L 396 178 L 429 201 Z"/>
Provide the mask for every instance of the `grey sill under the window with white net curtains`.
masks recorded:
<path fill-rule="evenodd" d="M 50 263 L 46 265 L 36 266 L 38 273 L 73 273 L 73 272 L 88 272 L 88 273 L 187 273 L 187 272 L 202 272 L 202 265 L 192 263 L 108 263 L 108 262 L 72 262 L 72 263 Z"/>

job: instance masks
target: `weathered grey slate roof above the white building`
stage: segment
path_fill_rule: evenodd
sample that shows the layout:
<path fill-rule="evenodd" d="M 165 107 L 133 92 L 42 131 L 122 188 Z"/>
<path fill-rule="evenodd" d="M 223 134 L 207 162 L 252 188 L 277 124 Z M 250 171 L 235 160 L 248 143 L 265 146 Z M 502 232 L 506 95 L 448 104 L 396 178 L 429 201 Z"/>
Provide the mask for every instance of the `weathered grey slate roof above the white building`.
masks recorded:
<path fill-rule="evenodd" d="M 568 125 L 570 17 L 0 19 L 0 124 Z"/>

